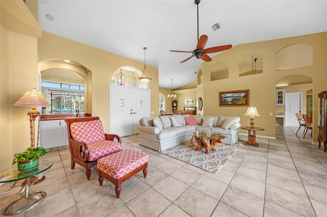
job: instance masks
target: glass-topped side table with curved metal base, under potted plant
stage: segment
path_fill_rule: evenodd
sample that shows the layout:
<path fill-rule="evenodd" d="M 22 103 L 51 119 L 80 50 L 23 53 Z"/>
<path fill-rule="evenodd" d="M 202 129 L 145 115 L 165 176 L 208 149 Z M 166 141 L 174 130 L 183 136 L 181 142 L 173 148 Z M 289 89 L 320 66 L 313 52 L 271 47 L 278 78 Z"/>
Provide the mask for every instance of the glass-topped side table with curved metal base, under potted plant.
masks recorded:
<path fill-rule="evenodd" d="M 36 168 L 33 168 L 29 171 L 18 171 L 17 165 L 4 170 L 0 173 L 0 183 L 9 183 L 10 189 L 6 192 L 11 191 L 14 187 L 19 187 L 20 185 L 17 185 L 17 182 L 19 180 L 25 179 L 26 184 L 22 186 L 20 191 L 17 193 L 17 195 L 22 195 L 17 200 L 15 200 L 13 203 L 11 203 L 6 210 L 4 211 L 4 215 L 14 215 L 21 212 L 25 212 L 33 207 L 35 207 L 37 204 L 42 202 L 45 197 L 46 193 L 43 191 L 36 191 L 33 193 L 30 193 L 30 188 L 33 186 L 33 184 L 42 177 L 42 173 L 52 166 L 52 161 L 49 160 L 40 160 L 39 166 Z M 35 181 L 30 182 L 30 178 L 36 176 L 38 179 L 35 179 Z M 6 193 L 4 192 L 4 193 Z M 4 194 L 3 193 L 3 194 Z"/>

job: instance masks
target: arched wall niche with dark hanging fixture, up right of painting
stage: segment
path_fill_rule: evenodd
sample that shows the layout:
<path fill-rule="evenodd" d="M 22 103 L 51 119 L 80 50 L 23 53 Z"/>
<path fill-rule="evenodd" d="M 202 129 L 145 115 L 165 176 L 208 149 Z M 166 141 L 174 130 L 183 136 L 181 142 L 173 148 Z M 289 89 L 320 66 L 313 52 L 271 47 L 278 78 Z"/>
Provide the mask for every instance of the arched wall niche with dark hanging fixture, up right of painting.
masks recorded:
<path fill-rule="evenodd" d="M 247 76 L 263 73 L 263 57 L 260 55 L 248 55 L 238 62 L 239 76 Z"/>

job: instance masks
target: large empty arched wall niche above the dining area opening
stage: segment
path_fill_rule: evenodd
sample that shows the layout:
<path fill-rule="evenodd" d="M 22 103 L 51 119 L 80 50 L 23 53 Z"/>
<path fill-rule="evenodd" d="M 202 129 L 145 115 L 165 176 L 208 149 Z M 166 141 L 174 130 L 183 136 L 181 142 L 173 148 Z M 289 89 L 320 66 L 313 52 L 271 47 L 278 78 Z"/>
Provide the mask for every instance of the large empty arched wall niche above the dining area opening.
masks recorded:
<path fill-rule="evenodd" d="M 310 44 L 293 44 L 276 52 L 276 71 L 313 65 L 313 47 Z"/>

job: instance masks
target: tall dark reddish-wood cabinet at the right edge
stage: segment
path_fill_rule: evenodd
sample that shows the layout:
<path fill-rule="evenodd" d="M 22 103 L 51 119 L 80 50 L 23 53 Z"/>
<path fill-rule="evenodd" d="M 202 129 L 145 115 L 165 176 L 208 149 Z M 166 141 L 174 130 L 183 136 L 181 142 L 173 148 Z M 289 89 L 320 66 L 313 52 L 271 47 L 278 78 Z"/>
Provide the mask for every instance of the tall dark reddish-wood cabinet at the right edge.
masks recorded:
<path fill-rule="evenodd" d="M 319 148 L 321 142 L 323 142 L 324 152 L 326 152 L 326 144 L 327 144 L 327 91 L 323 91 L 318 94 L 318 103 L 319 103 L 319 110 L 318 110 L 318 142 Z"/>

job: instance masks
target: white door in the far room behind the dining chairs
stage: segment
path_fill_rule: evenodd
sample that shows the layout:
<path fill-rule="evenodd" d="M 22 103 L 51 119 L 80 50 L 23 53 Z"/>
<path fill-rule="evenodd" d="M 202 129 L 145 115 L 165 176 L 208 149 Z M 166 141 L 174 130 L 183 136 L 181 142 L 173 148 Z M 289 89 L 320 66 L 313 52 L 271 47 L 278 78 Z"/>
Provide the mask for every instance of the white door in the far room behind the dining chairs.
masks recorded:
<path fill-rule="evenodd" d="M 285 126 L 299 126 L 295 113 L 301 111 L 302 93 L 285 94 Z"/>

